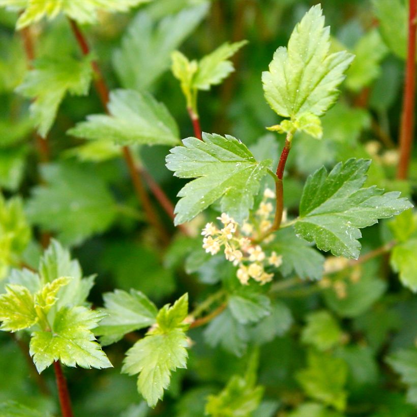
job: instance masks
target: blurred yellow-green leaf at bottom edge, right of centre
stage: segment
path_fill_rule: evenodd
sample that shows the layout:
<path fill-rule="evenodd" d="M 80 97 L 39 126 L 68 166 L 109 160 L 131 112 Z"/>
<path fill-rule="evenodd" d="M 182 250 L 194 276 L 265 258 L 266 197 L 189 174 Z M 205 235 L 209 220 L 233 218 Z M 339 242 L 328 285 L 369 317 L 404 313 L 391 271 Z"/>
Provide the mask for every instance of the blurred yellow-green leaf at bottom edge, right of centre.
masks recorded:
<path fill-rule="evenodd" d="M 209 395 L 205 414 L 214 417 L 248 417 L 258 408 L 263 396 L 263 386 L 253 386 L 239 376 L 233 375 L 218 395 Z"/>

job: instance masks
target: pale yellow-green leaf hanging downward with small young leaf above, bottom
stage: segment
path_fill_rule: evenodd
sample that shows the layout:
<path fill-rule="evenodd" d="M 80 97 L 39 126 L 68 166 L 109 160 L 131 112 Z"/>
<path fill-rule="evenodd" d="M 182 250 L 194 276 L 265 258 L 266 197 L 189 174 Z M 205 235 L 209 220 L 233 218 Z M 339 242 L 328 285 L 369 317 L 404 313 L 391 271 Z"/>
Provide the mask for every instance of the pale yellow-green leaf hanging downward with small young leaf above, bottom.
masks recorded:
<path fill-rule="evenodd" d="M 168 388 L 171 371 L 187 367 L 188 325 L 183 324 L 187 314 L 188 294 L 184 294 L 172 307 L 166 305 L 159 311 L 157 325 L 126 353 L 122 372 L 139 373 L 138 391 L 150 407 Z"/>

